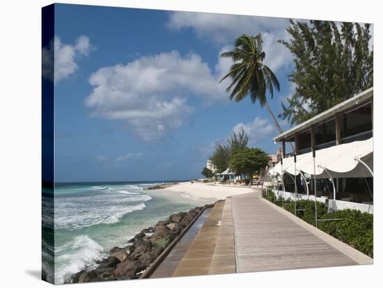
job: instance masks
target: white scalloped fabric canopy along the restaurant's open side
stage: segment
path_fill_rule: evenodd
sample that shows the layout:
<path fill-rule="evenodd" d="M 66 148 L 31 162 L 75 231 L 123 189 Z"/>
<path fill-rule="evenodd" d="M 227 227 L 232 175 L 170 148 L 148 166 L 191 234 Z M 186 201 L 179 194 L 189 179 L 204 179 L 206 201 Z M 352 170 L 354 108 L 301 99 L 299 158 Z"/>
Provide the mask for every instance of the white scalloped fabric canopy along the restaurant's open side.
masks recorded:
<path fill-rule="evenodd" d="M 364 141 L 354 141 L 341 145 L 331 146 L 322 150 L 316 151 L 315 157 L 315 175 L 318 178 L 331 177 L 371 177 L 368 169 L 355 158 L 361 159 L 370 170 L 373 170 L 373 138 Z M 297 155 L 297 170 L 294 166 L 294 157 L 283 159 L 283 164 L 278 163 L 274 170 L 269 169 L 269 173 L 274 175 L 289 173 L 298 175 L 299 171 L 306 174 L 314 174 L 313 154 L 308 152 Z"/>

